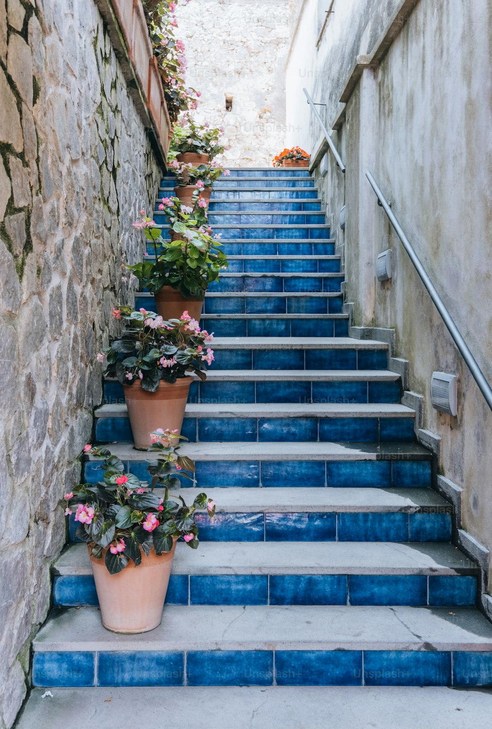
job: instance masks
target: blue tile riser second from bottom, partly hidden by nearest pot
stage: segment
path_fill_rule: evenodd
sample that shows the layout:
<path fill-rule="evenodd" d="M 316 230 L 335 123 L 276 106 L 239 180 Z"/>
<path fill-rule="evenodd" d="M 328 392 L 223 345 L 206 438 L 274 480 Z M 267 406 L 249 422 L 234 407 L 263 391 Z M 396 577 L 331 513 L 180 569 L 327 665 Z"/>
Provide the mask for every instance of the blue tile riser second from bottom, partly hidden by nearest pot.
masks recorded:
<path fill-rule="evenodd" d="M 470 607 L 474 575 L 171 574 L 168 605 L 399 605 Z M 55 577 L 57 607 L 98 607 L 94 579 Z"/>

